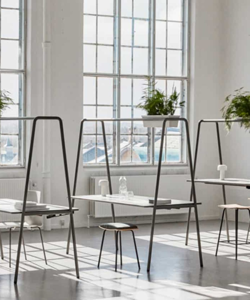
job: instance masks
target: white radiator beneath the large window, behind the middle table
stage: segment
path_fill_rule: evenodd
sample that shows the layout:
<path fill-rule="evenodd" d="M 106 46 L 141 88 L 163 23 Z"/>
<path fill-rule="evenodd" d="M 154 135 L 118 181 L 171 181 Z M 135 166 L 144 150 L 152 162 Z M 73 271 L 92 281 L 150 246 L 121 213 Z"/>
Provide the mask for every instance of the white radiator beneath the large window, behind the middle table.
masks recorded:
<path fill-rule="evenodd" d="M 113 194 L 118 193 L 118 182 L 120 176 L 112 176 L 111 183 Z M 150 196 L 153 197 L 155 194 L 155 175 L 142 175 L 142 176 L 126 176 L 128 191 L 133 191 L 134 195 Z M 161 175 L 159 193 L 158 196 L 161 198 L 172 198 L 179 200 L 189 199 L 190 183 L 186 182 L 190 178 L 190 175 Z M 98 182 L 100 179 L 107 179 L 104 176 L 91 177 L 90 178 L 90 193 L 100 194 L 100 187 Z M 115 215 L 117 217 L 125 216 L 144 216 L 151 215 L 152 208 L 140 208 L 128 205 L 114 205 Z M 161 209 L 157 211 L 157 214 L 186 214 L 187 208 L 179 210 Z M 90 203 L 90 214 L 92 217 L 111 217 L 110 204 L 101 202 Z"/>

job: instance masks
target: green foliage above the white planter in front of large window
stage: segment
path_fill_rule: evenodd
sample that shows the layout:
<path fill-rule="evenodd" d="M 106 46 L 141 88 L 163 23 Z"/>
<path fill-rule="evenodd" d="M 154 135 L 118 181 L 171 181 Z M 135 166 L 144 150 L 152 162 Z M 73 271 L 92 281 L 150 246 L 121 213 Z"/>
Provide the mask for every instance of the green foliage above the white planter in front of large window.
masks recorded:
<path fill-rule="evenodd" d="M 173 85 L 172 94 L 167 98 L 163 91 L 155 88 L 155 83 L 151 83 L 150 79 L 146 78 L 146 87 L 143 89 L 141 100 L 143 102 L 137 105 L 137 108 L 146 110 L 148 116 L 173 115 L 176 108 L 183 107 L 185 101 L 178 103 L 180 93 L 177 93 L 176 87 Z"/>

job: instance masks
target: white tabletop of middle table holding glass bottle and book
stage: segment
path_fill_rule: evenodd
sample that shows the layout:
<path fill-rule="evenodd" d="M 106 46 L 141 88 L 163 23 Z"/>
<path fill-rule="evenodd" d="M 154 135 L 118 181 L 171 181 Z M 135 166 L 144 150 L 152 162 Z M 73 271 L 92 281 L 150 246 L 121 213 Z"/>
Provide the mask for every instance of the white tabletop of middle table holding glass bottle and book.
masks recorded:
<path fill-rule="evenodd" d="M 71 196 L 71 199 L 79 199 L 79 200 L 88 200 L 88 201 L 97 201 L 97 202 L 104 202 L 104 203 L 112 203 L 112 204 L 122 204 L 122 205 L 131 205 L 137 207 L 144 207 L 144 208 L 153 208 L 154 204 L 149 203 L 149 198 L 152 197 L 145 197 L 145 196 L 133 196 L 131 198 L 119 198 L 119 197 L 110 197 L 110 196 L 101 196 L 101 195 L 80 195 L 80 196 Z M 201 204 L 201 203 L 197 203 Z M 157 207 L 170 209 L 170 208 L 181 208 L 181 207 L 189 207 L 193 205 L 193 202 L 190 201 L 183 201 L 183 200 L 176 200 L 171 199 L 171 203 L 169 204 L 158 204 Z"/>

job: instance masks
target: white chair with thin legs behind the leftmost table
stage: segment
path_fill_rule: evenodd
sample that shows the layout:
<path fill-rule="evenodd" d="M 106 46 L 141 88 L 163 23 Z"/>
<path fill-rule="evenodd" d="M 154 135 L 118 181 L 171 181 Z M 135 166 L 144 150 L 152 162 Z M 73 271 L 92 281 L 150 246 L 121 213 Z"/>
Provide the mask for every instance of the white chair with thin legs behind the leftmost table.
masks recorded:
<path fill-rule="evenodd" d="M 27 194 L 27 201 L 34 201 L 37 203 L 40 203 L 40 198 L 41 198 L 41 192 L 38 190 L 28 190 Z M 20 228 L 20 222 L 2 222 L 2 225 L 4 225 L 5 228 L 9 228 L 10 233 L 9 233 L 9 266 L 11 267 L 11 231 L 14 230 L 15 228 Z M 41 237 L 41 242 L 42 242 L 42 247 L 43 247 L 43 252 L 44 252 L 44 260 L 47 265 L 47 259 L 46 259 L 46 254 L 44 250 L 44 242 L 43 242 L 43 236 L 41 232 L 41 227 L 43 226 L 43 217 L 42 216 L 25 216 L 24 219 L 24 224 L 23 228 L 29 229 L 29 230 L 34 230 L 38 229 Z M 0 250 L 2 249 L 2 241 L 1 241 L 1 234 L 0 234 Z M 24 256 L 25 259 L 27 260 L 26 256 L 26 251 L 25 251 L 25 244 L 24 244 L 24 239 L 23 239 L 23 250 L 24 250 Z M 1 250 L 1 258 L 3 259 L 3 253 Z"/>

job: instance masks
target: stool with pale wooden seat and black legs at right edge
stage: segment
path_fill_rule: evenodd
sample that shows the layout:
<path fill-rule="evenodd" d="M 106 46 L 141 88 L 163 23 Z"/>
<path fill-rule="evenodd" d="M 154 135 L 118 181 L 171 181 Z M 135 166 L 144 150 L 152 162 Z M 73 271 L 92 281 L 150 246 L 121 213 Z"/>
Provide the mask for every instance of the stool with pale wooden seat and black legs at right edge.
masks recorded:
<path fill-rule="evenodd" d="M 243 206 L 243 205 L 239 205 L 239 204 L 223 204 L 223 205 L 218 205 L 218 207 L 223 208 L 223 212 L 222 212 L 222 217 L 221 217 L 221 225 L 220 225 L 220 231 L 219 231 L 218 243 L 217 243 L 217 247 L 216 247 L 215 256 L 217 256 L 217 253 L 218 253 L 218 247 L 219 247 L 219 242 L 220 242 L 220 237 L 221 237 L 221 228 L 222 228 L 223 219 L 224 219 L 224 213 L 225 213 L 225 210 L 228 208 L 228 209 L 235 209 L 235 259 L 237 259 L 237 247 L 238 247 L 238 211 L 239 211 L 239 209 L 247 209 L 248 213 L 249 213 L 249 217 L 250 217 L 250 206 Z M 249 242 L 247 241 L 248 240 L 249 229 L 250 229 L 250 223 L 249 223 L 249 226 L 248 226 L 246 242 L 245 243 L 241 243 L 241 244 L 249 244 Z"/>

